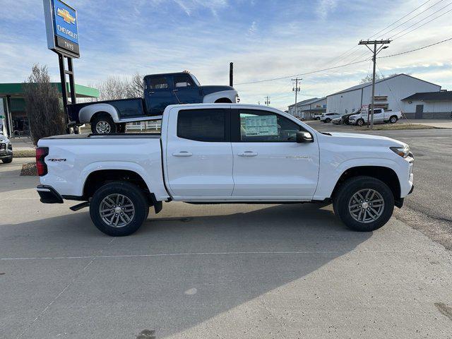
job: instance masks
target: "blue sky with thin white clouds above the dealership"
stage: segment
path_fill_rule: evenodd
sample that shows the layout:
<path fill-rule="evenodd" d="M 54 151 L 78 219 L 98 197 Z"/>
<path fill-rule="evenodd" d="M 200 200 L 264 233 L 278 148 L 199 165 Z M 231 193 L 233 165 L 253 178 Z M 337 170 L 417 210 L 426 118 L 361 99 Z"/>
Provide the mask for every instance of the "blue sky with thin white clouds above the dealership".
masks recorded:
<path fill-rule="evenodd" d="M 136 71 L 145 75 L 186 69 L 201 84 L 222 85 L 229 81 L 230 61 L 234 62 L 234 82 L 243 83 L 369 59 L 364 46 L 356 46 L 343 59 L 337 57 L 425 1 L 66 2 L 78 10 L 81 59 L 74 61 L 76 83 L 93 85 L 107 76 L 131 76 Z M 57 54 L 47 49 L 42 1 L 0 0 L 0 4 L 0 83 L 24 81 L 34 63 L 49 66 L 52 80 L 59 81 Z M 421 13 L 429 6 L 432 8 Z M 396 38 L 451 9 L 450 0 L 427 1 L 374 38 L 388 38 L 404 30 Z M 426 18 L 434 11 L 438 12 Z M 395 39 L 380 55 L 452 37 L 451 18 L 452 11 Z M 379 59 L 379 69 L 385 75 L 411 73 L 452 89 L 451 51 L 449 41 Z M 301 99 L 355 85 L 371 72 L 370 66 L 370 61 L 364 61 L 302 76 Z M 266 95 L 274 107 L 287 109 L 294 102 L 290 78 L 235 87 L 242 102 L 263 103 Z"/>

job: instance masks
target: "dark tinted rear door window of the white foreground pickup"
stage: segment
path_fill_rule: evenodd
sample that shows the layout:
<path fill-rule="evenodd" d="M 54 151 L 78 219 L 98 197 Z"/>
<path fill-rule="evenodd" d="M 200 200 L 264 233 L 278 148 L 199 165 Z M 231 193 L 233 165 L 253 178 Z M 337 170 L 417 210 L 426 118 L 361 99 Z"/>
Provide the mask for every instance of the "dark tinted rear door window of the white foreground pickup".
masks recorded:
<path fill-rule="evenodd" d="M 177 114 L 177 136 L 196 141 L 226 141 L 225 109 L 187 109 Z"/>

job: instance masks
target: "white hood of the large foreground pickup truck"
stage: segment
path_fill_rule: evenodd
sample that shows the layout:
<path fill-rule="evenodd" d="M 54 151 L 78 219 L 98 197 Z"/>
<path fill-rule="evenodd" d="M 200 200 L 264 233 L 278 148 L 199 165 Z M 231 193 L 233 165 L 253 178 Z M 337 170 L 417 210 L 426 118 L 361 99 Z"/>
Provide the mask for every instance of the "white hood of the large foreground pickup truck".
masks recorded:
<path fill-rule="evenodd" d="M 324 132 L 328 133 L 327 141 L 338 143 L 340 145 L 376 145 L 376 146 L 404 146 L 407 145 L 402 141 L 388 138 L 387 136 L 374 136 L 372 134 L 360 133 L 340 133 L 340 132 Z M 323 134 L 325 135 L 325 134 Z M 331 140 L 331 138 L 335 140 Z"/>

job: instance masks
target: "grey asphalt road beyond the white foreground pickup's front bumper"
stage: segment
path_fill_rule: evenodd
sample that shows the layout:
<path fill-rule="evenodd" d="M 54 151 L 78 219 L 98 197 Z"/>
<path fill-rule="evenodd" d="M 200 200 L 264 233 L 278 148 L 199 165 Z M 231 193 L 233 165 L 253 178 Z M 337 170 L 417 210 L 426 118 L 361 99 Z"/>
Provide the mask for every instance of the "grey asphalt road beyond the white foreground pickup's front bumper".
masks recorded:
<path fill-rule="evenodd" d="M 452 129 L 357 131 L 352 126 L 311 121 L 319 131 L 371 133 L 408 143 L 415 155 L 415 190 L 396 217 L 452 249 Z"/>

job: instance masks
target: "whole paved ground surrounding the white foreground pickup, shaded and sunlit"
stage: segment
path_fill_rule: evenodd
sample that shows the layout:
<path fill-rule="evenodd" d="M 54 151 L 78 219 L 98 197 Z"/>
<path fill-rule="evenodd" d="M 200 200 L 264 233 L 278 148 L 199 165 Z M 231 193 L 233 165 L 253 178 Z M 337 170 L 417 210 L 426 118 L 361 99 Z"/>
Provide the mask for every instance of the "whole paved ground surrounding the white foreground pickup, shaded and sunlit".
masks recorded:
<path fill-rule="evenodd" d="M 165 203 L 112 238 L 41 204 L 30 159 L 1 165 L 2 337 L 450 338 L 452 130 L 373 133 L 409 143 L 416 176 L 373 233 L 331 206 Z"/>

